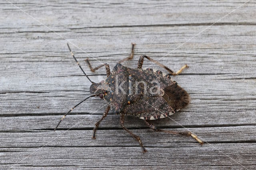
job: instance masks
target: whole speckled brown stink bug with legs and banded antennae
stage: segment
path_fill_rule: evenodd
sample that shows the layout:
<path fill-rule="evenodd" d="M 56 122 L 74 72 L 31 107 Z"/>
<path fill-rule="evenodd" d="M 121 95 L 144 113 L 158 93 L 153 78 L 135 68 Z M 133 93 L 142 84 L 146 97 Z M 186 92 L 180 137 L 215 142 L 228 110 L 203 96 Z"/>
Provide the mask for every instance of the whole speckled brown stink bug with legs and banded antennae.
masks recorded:
<path fill-rule="evenodd" d="M 90 86 L 90 93 L 92 96 L 87 97 L 82 100 L 84 102 L 88 98 L 99 96 L 101 99 L 104 99 L 109 102 L 105 112 L 102 115 L 102 118 L 95 123 L 93 129 L 92 139 L 95 139 L 95 132 L 100 125 L 100 122 L 108 115 L 108 111 L 111 109 L 114 113 L 120 114 L 120 125 L 126 130 L 132 137 L 134 137 L 142 147 L 143 151 L 146 152 L 146 149 L 143 147 L 140 137 L 134 135 L 130 130 L 124 126 L 124 115 L 131 115 L 144 119 L 145 123 L 153 130 L 158 132 L 170 133 L 170 134 L 179 134 L 192 136 L 199 143 L 203 143 L 198 137 L 191 132 L 177 132 L 177 131 L 168 131 L 163 129 L 157 129 L 149 120 L 161 119 L 168 117 L 182 107 L 185 107 L 190 102 L 190 97 L 188 93 L 181 88 L 177 82 L 172 80 L 168 74 L 157 70 L 154 71 L 151 68 L 142 69 L 142 64 L 144 58 L 158 64 L 159 66 L 166 69 L 170 72 L 170 75 L 178 75 L 187 65 L 184 65 L 176 73 L 164 66 L 163 64 L 158 63 L 157 61 L 151 59 L 146 55 L 142 55 L 138 61 L 137 68 L 128 68 L 123 66 L 123 61 L 130 60 L 134 55 L 134 45 L 132 44 L 132 52 L 130 57 L 127 57 L 119 61 L 112 72 L 108 64 L 102 64 L 96 68 L 92 68 L 89 60 L 86 59 L 92 72 L 101 68 L 102 66 L 106 67 L 107 78 L 106 81 L 100 83 L 94 83 L 88 78 L 78 61 L 76 60 L 74 54 L 72 53 L 69 45 L 68 49 L 70 50 L 71 55 L 75 59 L 78 66 L 81 68 L 85 76 L 90 80 L 92 85 Z M 79 104 L 81 104 L 80 102 Z M 76 106 L 78 106 L 77 104 Z M 68 111 L 72 111 L 76 106 Z M 68 114 L 66 113 L 59 121 L 60 122 Z M 57 129 L 58 125 L 54 129 Z"/>

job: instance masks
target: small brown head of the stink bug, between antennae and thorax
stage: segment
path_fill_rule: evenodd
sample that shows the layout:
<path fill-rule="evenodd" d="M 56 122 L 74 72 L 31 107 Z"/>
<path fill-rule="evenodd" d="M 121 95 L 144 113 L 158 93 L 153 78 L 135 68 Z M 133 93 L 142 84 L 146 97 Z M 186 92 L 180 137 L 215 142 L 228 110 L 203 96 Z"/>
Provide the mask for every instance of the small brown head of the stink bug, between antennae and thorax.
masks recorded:
<path fill-rule="evenodd" d="M 108 84 L 106 84 L 104 80 L 100 83 L 92 83 L 90 86 L 90 93 L 96 94 L 97 96 L 100 96 L 100 98 L 103 98 L 107 92 Z"/>

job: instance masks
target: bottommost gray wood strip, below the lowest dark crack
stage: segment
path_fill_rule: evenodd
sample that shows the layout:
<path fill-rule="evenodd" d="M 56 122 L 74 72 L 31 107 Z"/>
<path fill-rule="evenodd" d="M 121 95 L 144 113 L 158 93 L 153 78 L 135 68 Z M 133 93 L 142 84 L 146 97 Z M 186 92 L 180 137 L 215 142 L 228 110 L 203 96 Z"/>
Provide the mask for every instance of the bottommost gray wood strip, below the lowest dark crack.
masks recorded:
<path fill-rule="evenodd" d="M 16 165 L 37 148 L 1 149 L 2 164 L 6 168 L 237 168 L 253 169 L 255 166 L 255 143 L 212 144 L 212 147 L 148 148 L 143 154 L 138 147 L 50 147 L 36 151 Z M 226 155 L 218 151 L 221 150 Z M 114 154 L 109 154 L 109 153 Z M 230 158 L 237 162 L 230 160 Z M 18 160 L 18 161 L 17 161 Z M 241 166 L 240 164 L 243 164 Z M 55 168 L 55 167 L 54 167 Z"/>

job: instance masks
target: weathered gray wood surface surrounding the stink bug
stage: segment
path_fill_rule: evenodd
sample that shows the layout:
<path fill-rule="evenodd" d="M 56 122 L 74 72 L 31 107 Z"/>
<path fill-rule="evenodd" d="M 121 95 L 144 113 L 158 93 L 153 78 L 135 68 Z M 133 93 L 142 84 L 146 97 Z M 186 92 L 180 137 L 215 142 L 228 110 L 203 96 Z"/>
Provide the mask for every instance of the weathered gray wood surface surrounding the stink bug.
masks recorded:
<path fill-rule="evenodd" d="M 136 43 L 134 59 L 124 63 L 135 68 L 140 55 L 160 59 L 244 2 L 14 4 L 92 55 L 93 66 L 100 61 L 113 68 Z M 173 70 L 185 63 L 190 66 L 173 79 L 187 90 L 191 103 L 172 115 L 175 121 L 167 117 L 152 122 L 162 129 L 186 131 L 182 125 L 207 143 L 201 146 L 191 137 L 155 133 L 143 120 L 126 116 L 126 127 L 148 150 L 143 154 L 120 127 L 119 115 L 110 113 L 96 140 L 91 139 L 94 123 L 106 107 L 100 98 L 81 104 L 53 132 L 60 117 L 89 95 L 90 82 L 70 56 L 65 39 L 2 0 L 0 169 L 255 169 L 255 16 L 256 2 L 251 0 L 160 60 Z M 104 68 L 90 72 L 84 61 L 89 56 L 70 46 L 93 81 L 106 77 Z M 144 68 L 151 64 L 144 61 Z M 156 64 L 150 68 L 160 69 Z"/>

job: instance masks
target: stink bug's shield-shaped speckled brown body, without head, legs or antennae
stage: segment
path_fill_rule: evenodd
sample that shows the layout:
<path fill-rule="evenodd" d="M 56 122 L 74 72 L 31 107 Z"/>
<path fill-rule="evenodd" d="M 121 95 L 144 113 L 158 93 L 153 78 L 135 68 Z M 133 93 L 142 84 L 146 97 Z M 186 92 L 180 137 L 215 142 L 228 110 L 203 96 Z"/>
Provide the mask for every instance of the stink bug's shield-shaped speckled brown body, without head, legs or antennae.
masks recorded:
<path fill-rule="evenodd" d="M 167 117 L 190 102 L 188 93 L 169 75 L 150 68 L 134 69 L 116 64 L 102 86 L 106 90 L 104 98 L 114 113 L 140 119 Z"/>

